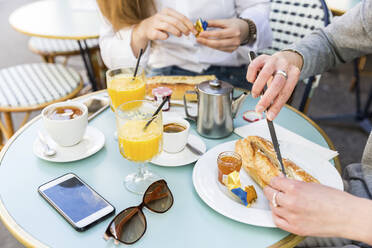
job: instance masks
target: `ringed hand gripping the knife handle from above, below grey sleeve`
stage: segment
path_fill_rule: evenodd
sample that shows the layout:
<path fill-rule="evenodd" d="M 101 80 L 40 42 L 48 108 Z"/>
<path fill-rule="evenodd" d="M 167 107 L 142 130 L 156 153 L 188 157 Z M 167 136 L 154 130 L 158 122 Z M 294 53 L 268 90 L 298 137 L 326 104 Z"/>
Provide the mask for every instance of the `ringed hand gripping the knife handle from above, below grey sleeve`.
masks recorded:
<path fill-rule="evenodd" d="M 249 64 L 247 81 L 253 83 L 251 92 L 254 98 L 261 94 L 265 85 L 272 79 L 265 94 L 256 105 L 256 112 L 261 113 L 272 104 L 268 109 L 267 118 L 275 119 L 296 87 L 302 65 L 302 57 L 291 51 L 278 52 L 272 56 L 261 55 Z M 275 74 L 278 70 L 284 71 L 288 79 L 282 74 Z"/>

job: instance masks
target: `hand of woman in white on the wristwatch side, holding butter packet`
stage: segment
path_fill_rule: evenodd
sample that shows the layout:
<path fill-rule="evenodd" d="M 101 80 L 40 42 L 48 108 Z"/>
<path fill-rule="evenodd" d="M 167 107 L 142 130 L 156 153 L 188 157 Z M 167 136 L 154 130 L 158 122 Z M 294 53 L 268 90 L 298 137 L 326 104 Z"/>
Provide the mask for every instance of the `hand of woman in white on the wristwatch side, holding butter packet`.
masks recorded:
<path fill-rule="evenodd" d="M 247 22 L 238 18 L 209 20 L 209 27 L 219 29 L 201 32 L 196 41 L 202 45 L 224 52 L 231 53 L 235 51 L 249 35 Z"/>

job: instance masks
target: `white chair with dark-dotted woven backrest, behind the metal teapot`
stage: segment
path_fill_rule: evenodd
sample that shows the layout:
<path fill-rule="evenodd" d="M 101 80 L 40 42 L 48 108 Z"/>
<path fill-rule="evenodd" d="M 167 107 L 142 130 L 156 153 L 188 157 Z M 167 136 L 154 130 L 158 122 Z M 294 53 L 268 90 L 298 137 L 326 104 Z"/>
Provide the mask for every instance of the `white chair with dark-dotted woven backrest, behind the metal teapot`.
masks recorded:
<path fill-rule="evenodd" d="M 273 54 L 297 42 L 315 29 L 330 23 L 332 13 L 324 0 L 271 0 L 270 26 L 273 32 L 272 45 L 260 54 Z M 306 113 L 314 89 L 321 75 L 304 80 L 306 84 L 299 110 Z"/>

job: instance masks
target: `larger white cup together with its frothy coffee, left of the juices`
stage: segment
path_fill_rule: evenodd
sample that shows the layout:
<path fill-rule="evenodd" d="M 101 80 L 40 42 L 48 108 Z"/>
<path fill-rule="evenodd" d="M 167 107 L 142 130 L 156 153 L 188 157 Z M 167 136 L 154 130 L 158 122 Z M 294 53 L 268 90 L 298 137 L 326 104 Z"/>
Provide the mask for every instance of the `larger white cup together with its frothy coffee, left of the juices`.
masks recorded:
<path fill-rule="evenodd" d="M 79 143 L 88 125 L 88 108 L 79 102 L 60 102 L 41 112 L 48 135 L 60 146 Z"/>

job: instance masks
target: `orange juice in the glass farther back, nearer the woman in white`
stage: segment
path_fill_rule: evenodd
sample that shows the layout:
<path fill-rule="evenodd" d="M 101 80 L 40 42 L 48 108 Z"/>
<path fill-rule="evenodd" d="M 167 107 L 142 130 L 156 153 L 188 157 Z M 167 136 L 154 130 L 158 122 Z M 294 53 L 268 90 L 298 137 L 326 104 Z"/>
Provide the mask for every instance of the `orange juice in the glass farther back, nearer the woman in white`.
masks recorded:
<path fill-rule="evenodd" d="M 108 82 L 107 91 L 112 107 L 116 109 L 120 104 L 134 100 L 145 99 L 146 84 L 143 78 L 116 77 Z M 134 106 L 132 106 L 134 107 Z"/>

